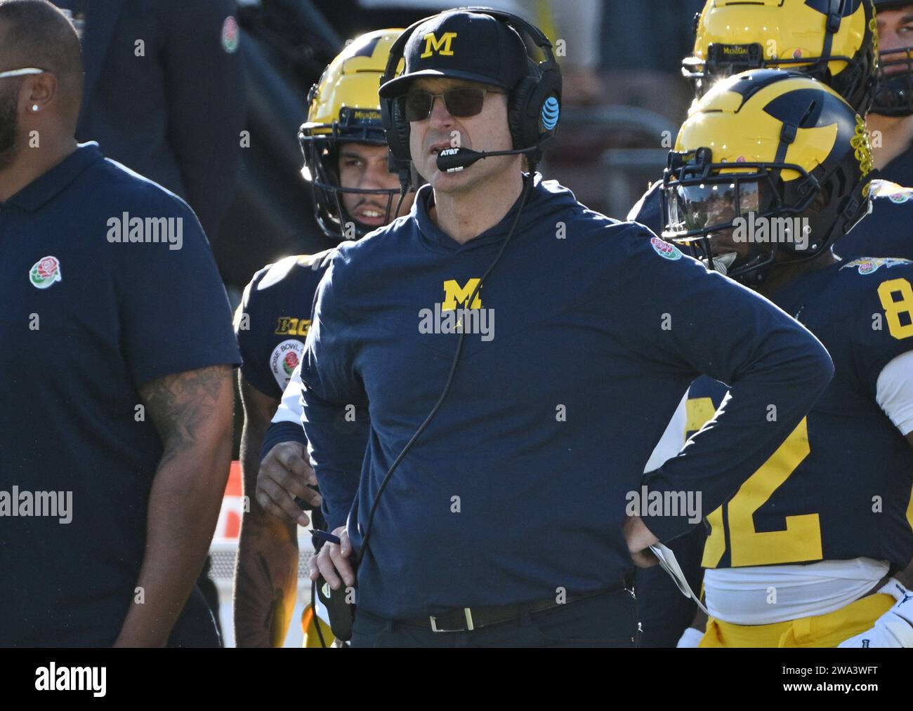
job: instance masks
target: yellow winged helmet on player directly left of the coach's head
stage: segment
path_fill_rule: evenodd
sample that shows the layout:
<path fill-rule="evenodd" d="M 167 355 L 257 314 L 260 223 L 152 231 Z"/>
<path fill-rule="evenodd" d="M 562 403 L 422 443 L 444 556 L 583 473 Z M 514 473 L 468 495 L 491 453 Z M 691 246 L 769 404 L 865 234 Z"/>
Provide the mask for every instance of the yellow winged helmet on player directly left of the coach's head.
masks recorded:
<path fill-rule="evenodd" d="M 349 141 L 386 145 L 381 121 L 381 99 L 377 93 L 390 47 L 401 29 L 383 29 L 358 37 L 334 58 L 308 94 L 308 120 L 298 132 L 304 168 L 310 183 L 314 212 L 321 229 L 330 236 L 346 236 L 346 225 L 355 225 L 362 237 L 373 227 L 362 225 L 347 214 L 342 193 L 379 195 L 386 199 L 386 218 L 393 215 L 399 190 L 343 188 L 339 181 L 339 146 Z"/>

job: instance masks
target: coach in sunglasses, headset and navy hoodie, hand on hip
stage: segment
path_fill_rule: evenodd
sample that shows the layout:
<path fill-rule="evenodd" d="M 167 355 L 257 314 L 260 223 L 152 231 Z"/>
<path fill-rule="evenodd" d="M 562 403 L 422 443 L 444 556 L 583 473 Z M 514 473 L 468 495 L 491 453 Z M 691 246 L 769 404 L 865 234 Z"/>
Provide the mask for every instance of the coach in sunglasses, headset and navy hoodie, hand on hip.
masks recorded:
<path fill-rule="evenodd" d="M 541 180 L 561 75 L 537 28 L 429 17 L 384 78 L 391 152 L 428 184 L 320 284 L 303 419 L 341 538 L 320 573 L 352 588 L 354 646 L 634 646 L 634 561 L 697 522 L 629 516 L 631 495 L 712 510 L 833 365 L 764 298 Z M 701 372 L 730 384 L 725 412 L 644 479 Z M 344 426 L 360 415 L 366 448 Z"/>

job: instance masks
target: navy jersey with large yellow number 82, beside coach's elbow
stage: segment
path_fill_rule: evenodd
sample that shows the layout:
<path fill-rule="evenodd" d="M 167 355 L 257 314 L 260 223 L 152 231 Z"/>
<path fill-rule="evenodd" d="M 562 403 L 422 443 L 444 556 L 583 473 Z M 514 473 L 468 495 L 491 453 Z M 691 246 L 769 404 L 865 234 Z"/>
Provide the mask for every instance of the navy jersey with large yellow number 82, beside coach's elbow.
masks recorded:
<path fill-rule="evenodd" d="M 705 568 L 913 558 L 913 447 L 876 403 L 882 368 L 913 350 L 913 262 L 864 258 L 798 277 L 771 300 L 834 359 L 834 380 L 735 497 L 707 518 Z M 727 388 L 688 391 L 687 434 Z M 771 412 L 771 417 L 776 413 Z"/>

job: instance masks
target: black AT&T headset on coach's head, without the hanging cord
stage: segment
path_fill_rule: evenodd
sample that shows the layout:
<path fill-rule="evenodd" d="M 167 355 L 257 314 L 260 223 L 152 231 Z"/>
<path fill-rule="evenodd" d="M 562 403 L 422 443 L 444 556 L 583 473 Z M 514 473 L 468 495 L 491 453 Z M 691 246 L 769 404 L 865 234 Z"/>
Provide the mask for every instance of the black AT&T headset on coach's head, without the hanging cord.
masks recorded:
<path fill-rule="evenodd" d="M 467 149 L 455 149 L 446 156 L 439 156 L 438 169 L 458 171 L 471 165 L 479 158 L 488 155 L 529 155 L 530 166 L 541 160 L 541 148 L 554 138 L 558 132 L 558 120 L 561 117 L 561 68 L 555 59 L 551 42 L 539 27 L 530 25 L 522 17 L 486 7 L 461 7 L 461 10 L 493 17 L 511 29 L 520 37 L 527 47 L 527 55 L 533 47 L 538 47 L 545 59 L 537 64 L 527 58 L 528 71 L 511 89 L 508 99 L 508 127 L 513 141 L 512 151 L 475 152 Z M 387 66 L 381 77 L 381 84 L 396 78 L 399 63 L 404 57 L 404 50 L 409 37 L 415 30 L 431 17 L 424 17 L 406 27 L 403 34 L 390 47 Z M 381 99 L 381 118 L 386 131 L 387 146 L 390 149 L 390 172 L 400 176 L 400 183 L 412 183 L 412 156 L 409 151 L 409 121 L 405 120 L 403 97 Z M 440 160 L 441 158 L 445 160 Z M 532 173 L 532 170 L 530 170 Z M 398 212 L 398 211 L 397 211 Z"/>

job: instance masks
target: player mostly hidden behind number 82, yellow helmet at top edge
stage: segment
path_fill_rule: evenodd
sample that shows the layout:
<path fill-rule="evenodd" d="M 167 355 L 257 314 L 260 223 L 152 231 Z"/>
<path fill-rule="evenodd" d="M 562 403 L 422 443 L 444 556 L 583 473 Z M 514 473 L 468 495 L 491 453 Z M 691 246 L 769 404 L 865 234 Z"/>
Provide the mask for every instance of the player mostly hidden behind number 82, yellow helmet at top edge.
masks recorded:
<path fill-rule="evenodd" d="M 876 0 L 875 5 L 892 3 Z M 785 68 L 822 80 L 864 116 L 876 93 L 879 31 L 886 36 L 889 46 L 902 41 L 887 37 L 889 30 L 880 13 L 876 19 L 872 0 L 844 3 L 839 15 L 833 17 L 829 16 L 827 2 L 778 0 L 747 5 L 708 0 L 695 18 L 695 31 L 694 53 L 683 60 L 682 70 L 694 84 L 696 101 L 715 82 L 740 70 Z M 898 31 L 895 37 L 900 35 Z M 883 93 L 883 89 L 879 91 Z M 879 167 L 877 161 L 876 154 L 876 167 Z M 879 177 L 913 184 L 903 182 L 906 179 L 893 170 L 897 162 Z M 657 181 L 628 214 L 628 219 L 649 226 L 657 234 L 665 229 L 660 189 L 661 181 Z M 908 238 L 907 231 L 907 225 L 913 222 L 913 204 L 902 204 L 910 195 L 913 193 L 898 185 L 873 183 L 874 214 L 841 239 L 836 246 L 838 253 L 850 258 L 870 255 L 913 258 L 913 239 Z M 671 427 L 658 451 L 665 456 L 677 451 L 681 442 L 681 428 Z M 657 465 L 661 461 L 658 453 L 651 459 Z M 700 575 L 703 531 L 698 529 L 679 538 L 673 548 L 694 587 Z M 691 620 L 693 603 L 681 597 L 661 570 L 637 570 L 637 582 L 644 626 L 642 646 L 675 644 Z"/>

